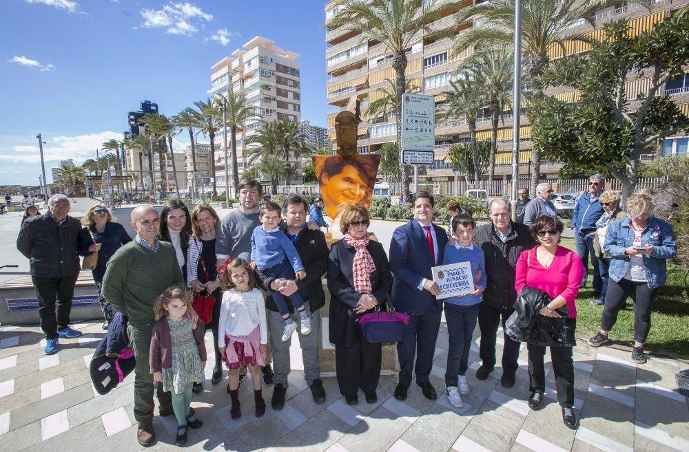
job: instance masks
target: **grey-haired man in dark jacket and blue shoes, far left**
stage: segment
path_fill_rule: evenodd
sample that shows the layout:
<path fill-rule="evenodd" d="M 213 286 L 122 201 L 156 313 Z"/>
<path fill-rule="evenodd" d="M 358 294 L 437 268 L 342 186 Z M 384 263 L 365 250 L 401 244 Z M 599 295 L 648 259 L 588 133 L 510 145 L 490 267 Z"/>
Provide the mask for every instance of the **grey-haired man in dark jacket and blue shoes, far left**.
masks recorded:
<path fill-rule="evenodd" d="M 65 195 L 52 195 L 48 211 L 27 218 L 17 237 L 17 249 L 29 259 L 41 330 L 45 334 L 43 352 L 48 355 L 57 352 L 59 338 L 81 336 L 81 332 L 69 326 L 74 284 L 79 277 L 81 231 L 81 222 L 68 215 L 71 207 Z"/>

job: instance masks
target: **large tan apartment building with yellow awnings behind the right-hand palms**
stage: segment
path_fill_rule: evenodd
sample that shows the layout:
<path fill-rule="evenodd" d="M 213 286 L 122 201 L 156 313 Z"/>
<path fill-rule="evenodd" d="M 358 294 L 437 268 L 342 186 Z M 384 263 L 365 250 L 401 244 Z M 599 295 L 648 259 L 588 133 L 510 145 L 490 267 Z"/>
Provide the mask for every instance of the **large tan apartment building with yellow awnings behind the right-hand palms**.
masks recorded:
<path fill-rule="evenodd" d="M 457 12 L 470 6 L 471 1 L 462 1 L 451 4 L 448 0 L 424 0 L 421 8 L 429 6 L 442 6 L 447 3 L 446 8 L 442 9 L 441 17 L 429 24 L 431 30 L 450 30 L 453 34 L 460 34 L 473 26 L 471 21 L 457 25 L 455 20 Z M 476 2 L 478 3 L 478 2 Z M 630 20 L 630 26 L 635 33 L 639 34 L 651 30 L 653 25 L 662 21 L 671 10 L 679 8 L 687 3 L 687 0 L 657 0 L 650 10 L 642 8 L 638 3 L 620 2 L 620 5 L 601 9 L 595 19 L 596 27 L 601 28 L 602 24 L 609 21 L 617 21 L 622 18 Z M 325 4 L 325 20 L 328 21 L 337 12 L 335 1 Z M 593 32 L 588 22 L 582 20 L 575 23 L 566 34 L 579 34 Z M 348 32 L 345 27 L 326 29 L 325 34 L 326 50 L 326 71 L 329 75 L 327 80 L 327 103 L 333 107 L 327 113 L 328 136 L 330 140 L 336 140 L 334 121 L 335 116 L 347 105 L 351 96 L 356 94 L 362 101 L 362 117 L 366 120 L 362 122 L 358 130 L 358 147 L 360 153 L 375 151 L 382 144 L 395 142 L 395 118 L 394 114 L 387 118 L 367 118 L 366 110 L 371 102 L 380 98 L 380 92 L 376 90 L 380 87 L 388 87 L 386 79 L 394 81 L 395 71 L 391 67 L 392 54 L 388 52 L 384 45 L 375 41 L 361 42 L 361 36 Z M 431 95 L 435 98 L 436 109 L 442 108 L 445 102 L 443 92 L 449 91 L 451 86 L 449 80 L 460 61 L 473 54 L 469 49 L 457 56 L 451 56 L 453 38 L 438 38 L 429 33 L 418 34 L 416 39 L 407 49 L 407 71 L 406 75 L 412 83 L 422 88 L 422 94 Z M 558 47 L 559 49 L 559 47 Z M 568 52 L 585 52 L 586 47 L 569 46 Z M 557 54 L 557 50 L 551 55 L 552 58 L 562 56 Z M 628 80 L 628 93 L 638 93 L 639 89 L 648 89 L 648 80 L 631 77 Z M 668 83 L 666 94 L 672 95 L 677 99 L 677 103 L 685 112 L 689 112 L 689 76 L 679 78 Z M 558 96 L 569 102 L 577 100 L 577 92 L 570 90 L 550 90 L 546 94 Z M 531 125 L 522 109 L 520 118 L 520 174 L 526 175 L 531 171 Z M 512 113 L 503 111 L 500 120 L 500 129 L 497 131 L 498 152 L 495 156 L 496 177 L 510 178 L 511 176 L 511 150 L 512 150 Z M 483 116 L 477 122 L 477 139 L 489 140 L 491 137 L 491 111 L 484 109 Z M 432 166 L 421 167 L 420 183 L 433 184 L 433 182 L 447 182 L 455 180 L 455 173 L 449 162 L 444 159 L 447 150 L 453 144 L 466 142 L 469 140 L 469 127 L 465 121 L 438 123 L 435 127 L 435 162 Z M 687 140 L 679 137 L 674 141 L 665 140 L 663 148 L 667 152 L 686 152 Z M 561 165 L 553 164 L 542 160 L 541 177 L 557 177 L 557 171 Z"/>

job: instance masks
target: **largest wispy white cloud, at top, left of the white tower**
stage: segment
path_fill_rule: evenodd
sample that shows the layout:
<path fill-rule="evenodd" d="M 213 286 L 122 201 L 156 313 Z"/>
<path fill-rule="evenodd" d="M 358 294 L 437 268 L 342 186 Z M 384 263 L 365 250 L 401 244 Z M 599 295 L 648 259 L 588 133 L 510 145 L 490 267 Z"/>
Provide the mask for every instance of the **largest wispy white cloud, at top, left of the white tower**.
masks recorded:
<path fill-rule="evenodd" d="M 213 14 L 203 12 L 193 3 L 169 2 L 161 10 L 141 10 L 144 22 L 141 28 L 165 28 L 167 34 L 191 36 L 198 32 L 198 26 L 213 20 Z"/>

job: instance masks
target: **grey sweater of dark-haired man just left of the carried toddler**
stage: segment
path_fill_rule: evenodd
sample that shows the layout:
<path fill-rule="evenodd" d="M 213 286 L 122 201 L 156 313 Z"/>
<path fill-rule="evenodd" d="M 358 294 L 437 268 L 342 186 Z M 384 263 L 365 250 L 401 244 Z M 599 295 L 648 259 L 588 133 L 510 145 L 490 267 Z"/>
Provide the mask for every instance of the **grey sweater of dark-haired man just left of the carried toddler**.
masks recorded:
<path fill-rule="evenodd" d="M 251 234 L 254 233 L 258 222 L 258 209 L 254 213 L 244 213 L 242 209 L 232 209 L 220 220 L 218 239 L 216 239 L 216 258 L 236 259 L 242 253 L 247 253 L 247 260 L 251 255 Z"/>

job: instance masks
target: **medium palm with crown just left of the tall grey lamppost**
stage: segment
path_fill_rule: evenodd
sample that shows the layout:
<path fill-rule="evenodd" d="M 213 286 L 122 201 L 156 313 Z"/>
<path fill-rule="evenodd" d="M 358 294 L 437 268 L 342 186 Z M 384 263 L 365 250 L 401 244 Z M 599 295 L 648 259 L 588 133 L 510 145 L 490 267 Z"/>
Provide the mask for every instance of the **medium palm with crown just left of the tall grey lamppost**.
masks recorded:
<path fill-rule="evenodd" d="M 513 80 L 513 54 L 504 47 L 489 47 L 477 52 L 458 67 L 466 70 L 473 80 L 474 89 L 481 92 L 491 109 L 491 157 L 489 159 L 488 186 L 495 177 L 495 153 L 497 153 L 497 127 L 504 105 L 510 103 Z"/>

